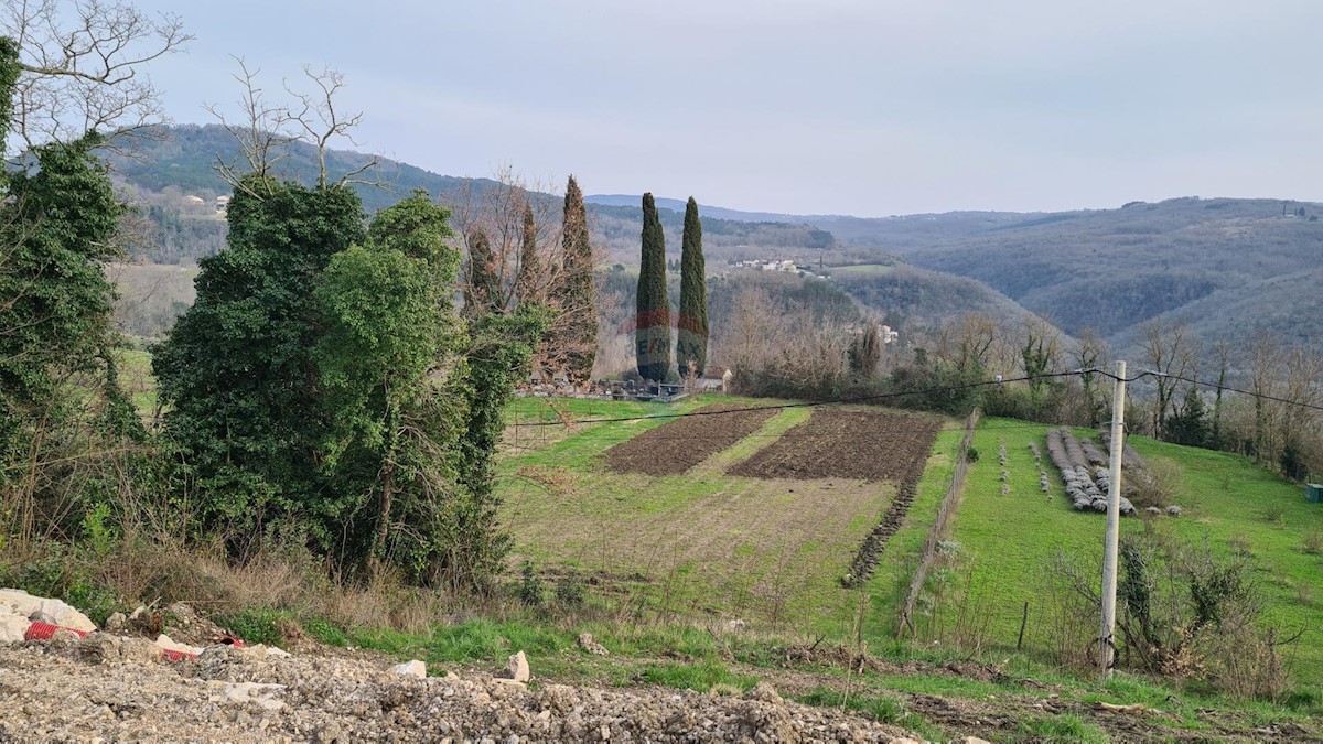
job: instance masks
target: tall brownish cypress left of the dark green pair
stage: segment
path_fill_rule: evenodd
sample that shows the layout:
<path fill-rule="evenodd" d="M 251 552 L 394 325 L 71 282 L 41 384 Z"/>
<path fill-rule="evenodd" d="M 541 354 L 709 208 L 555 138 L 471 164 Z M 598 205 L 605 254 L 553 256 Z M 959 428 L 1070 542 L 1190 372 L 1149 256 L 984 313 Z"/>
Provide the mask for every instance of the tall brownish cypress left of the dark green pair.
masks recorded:
<path fill-rule="evenodd" d="M 587 234 L 583 192 L 570 176 L 565 185 L 565 222 L 561 230 L 565 278 L 561 293 L 561 353 L 565 373 L 577 385 L 593 376 L 597 360 L 597 287 L 593 286 L 593 246 Z"/>

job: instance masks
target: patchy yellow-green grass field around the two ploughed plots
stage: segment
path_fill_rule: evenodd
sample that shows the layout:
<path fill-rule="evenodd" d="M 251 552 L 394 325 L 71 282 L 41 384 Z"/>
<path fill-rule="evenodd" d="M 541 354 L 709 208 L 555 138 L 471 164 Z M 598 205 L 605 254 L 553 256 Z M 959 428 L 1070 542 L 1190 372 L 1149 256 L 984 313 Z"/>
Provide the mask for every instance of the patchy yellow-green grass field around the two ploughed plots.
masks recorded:
<path fill-rule="evenodd" d="M 536 405 L 521 401 L 520 416 L 546 417 Z M 590 404 L 574 405 L 587 413 Z M 609 404 L 595 405 L 605 413 Z M 646 410 L 656 409 L 610 404 L 610 417 Z M 529 433 L 536 449 L 519 450 L 501 465 L 501 519 L 516 536 L 513 561 L 532 560 L 550 573 L 579 572 L 663 613 L 847 635 L 857 594 L 841 589 L 839 579 L 896 485 L 726 474 L 810 413 L 782 410 L 688 473 L 656 478 L 615 473 L 599 455 L 667 420 L 579 426 L 546 446 Z M 664 447 L 658 457 L 665 457 Z"/>

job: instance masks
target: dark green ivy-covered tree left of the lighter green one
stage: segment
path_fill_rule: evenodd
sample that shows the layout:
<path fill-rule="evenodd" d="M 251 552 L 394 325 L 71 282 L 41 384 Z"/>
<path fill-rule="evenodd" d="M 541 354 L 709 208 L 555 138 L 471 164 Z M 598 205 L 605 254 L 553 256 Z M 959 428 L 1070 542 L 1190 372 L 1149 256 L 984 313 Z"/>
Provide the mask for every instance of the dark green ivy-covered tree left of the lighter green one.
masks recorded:
<path fill-rule="evenodd" d="M 336 508 L 319 473 L 328 425 L 316 289 L 331 258 L 365 234 L 349 188 L 259 176 L 235 189 L 229 226 L 229 249 L 198 262 L 197 301 L 152 368 L 202 527 L 243 552 L 296 515 Z M 323 526 L 290 526 L 321 545 L 336 539 Z"/>

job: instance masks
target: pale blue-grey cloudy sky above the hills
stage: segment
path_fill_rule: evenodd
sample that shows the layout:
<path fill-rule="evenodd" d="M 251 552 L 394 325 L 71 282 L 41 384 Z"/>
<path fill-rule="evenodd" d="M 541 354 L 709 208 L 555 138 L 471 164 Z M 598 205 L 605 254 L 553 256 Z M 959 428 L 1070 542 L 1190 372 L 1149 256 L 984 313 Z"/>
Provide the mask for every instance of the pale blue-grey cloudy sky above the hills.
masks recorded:
<path fill-rule="evenodd" d="M 1319 0 L 135 0 L 176 122 L 344 74 L 352 150 L 586 193 L 888 216 L 1323 201 Z M 183 7 L 183 8 L 181 8 Z"/>

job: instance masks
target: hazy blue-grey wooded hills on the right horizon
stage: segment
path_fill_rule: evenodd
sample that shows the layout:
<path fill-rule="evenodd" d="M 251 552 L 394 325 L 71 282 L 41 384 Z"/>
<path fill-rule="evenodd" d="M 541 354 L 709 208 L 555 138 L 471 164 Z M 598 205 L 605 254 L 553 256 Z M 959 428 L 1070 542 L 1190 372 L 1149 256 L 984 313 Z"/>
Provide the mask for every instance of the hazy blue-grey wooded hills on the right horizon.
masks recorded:
<path fill-rule="evenodd" d="M 1314 203 L 1183 197 L 1054 213 L 775 217 L 831 232 L 828 263 L 898 257 L 976 279 L 1069 335 L 1091 327 L 1134 352 L 1138 326 L 1154 318 L 1189 323 L 1209 346 L 1221 338 L 1248 346 L 1258 335 L 1316 343 L 1320 213 Z"/>

